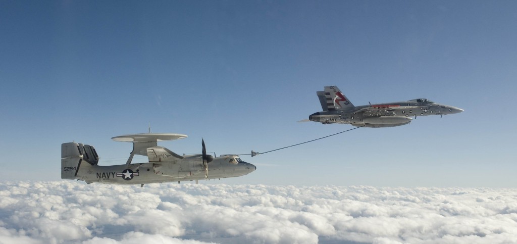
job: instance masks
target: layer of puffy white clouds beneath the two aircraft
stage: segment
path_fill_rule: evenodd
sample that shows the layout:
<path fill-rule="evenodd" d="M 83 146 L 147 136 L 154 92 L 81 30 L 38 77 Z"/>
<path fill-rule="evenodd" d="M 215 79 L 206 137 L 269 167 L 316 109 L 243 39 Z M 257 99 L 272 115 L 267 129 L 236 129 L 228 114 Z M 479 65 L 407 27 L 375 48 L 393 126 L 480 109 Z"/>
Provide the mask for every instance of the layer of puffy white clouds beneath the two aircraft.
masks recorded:
<path fill-rule="evenodd" d="M 0 243 L 515 243 L 517 189 L 0 183 Z"/>

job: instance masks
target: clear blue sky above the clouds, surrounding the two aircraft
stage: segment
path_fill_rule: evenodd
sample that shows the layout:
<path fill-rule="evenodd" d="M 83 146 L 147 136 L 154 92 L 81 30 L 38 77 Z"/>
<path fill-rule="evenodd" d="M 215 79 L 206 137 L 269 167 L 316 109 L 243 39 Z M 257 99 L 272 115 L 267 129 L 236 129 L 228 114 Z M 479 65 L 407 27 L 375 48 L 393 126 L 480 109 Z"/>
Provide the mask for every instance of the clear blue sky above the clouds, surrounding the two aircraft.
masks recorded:
<path fill-rule="evenodd" d="M 353 128 L 296 123 L 337 85 L 355 104 L 428 98 L 457 115 L 242 158 L 226 184 L 515 187 L 514 1 L 0 2 L 2 179 L 59 180 L 60 144 L 124 163 L 268 151 Z M 145 160 L 145 158 L 140 158 Z M 117 161 L 118 160 L 118 161 Z M 212 182 L 210 182 L 212 183 Z"/>

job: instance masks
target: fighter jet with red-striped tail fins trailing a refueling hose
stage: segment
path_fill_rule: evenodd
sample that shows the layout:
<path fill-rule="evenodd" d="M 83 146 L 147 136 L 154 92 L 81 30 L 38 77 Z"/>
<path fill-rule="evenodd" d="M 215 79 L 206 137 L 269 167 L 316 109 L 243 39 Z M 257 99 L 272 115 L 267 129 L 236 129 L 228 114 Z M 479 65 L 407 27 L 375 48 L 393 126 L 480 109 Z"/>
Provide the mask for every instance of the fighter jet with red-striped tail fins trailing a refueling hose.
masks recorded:
<path fill-rule="evenodd" d="M 323 111 L 311 114 L 309 120 L 324 125 L 338 123 L 370 128 L 394 127 L 409 124 L 412 117 L 463 112 L 460 108 L 425 98 L 354 106 L 337 86 L 325 86 L 325 91 L 316 91 L 316 95 Z"/>

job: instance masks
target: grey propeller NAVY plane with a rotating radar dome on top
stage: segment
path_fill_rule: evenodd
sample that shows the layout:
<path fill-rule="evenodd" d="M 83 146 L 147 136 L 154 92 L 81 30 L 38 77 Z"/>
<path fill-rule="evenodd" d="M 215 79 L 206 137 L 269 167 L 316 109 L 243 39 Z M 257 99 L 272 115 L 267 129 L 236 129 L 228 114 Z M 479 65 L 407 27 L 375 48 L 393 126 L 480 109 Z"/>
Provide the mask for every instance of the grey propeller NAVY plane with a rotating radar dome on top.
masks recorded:
<path fill-rule="evenodd" d="M 186 138 L 172 133 L 145 133 L 115 136 L 117 142 L 132 142 L 133 151 L 126 164 L 100 166 L 93 146 L 76 142 L 61 144 L 61 178 L 84 180 L 90 184 L 144 184 L 200 179 L 220 179 L 247 175 L 255 165 L 242 161 L 236 155 L 212 157 L 206 154 L 202 140 L 202 154 L 177 155 L 158 146 L 158 141 Z M 147 156 L 149 162 L 131 163 L 134 155 Z"/>

